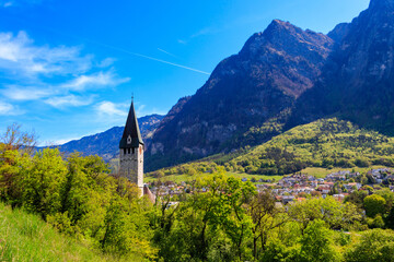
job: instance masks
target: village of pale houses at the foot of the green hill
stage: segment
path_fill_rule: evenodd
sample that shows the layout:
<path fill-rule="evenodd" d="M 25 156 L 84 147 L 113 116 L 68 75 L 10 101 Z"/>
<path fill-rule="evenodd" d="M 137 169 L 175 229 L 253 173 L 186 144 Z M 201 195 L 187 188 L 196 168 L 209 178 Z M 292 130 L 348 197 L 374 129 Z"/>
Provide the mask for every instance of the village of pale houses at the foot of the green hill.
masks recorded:
<path fill-rule="evenodd" d="M 252 181 L 253 180 L 253 181 Z M 390 168 L 371 169 L 367 174 L 351 172 L 350 170 L 341 170 L 327 175 L 325 178 L 316 178 L 315 176 L 306 174 L 293 174 L 285 176 L 277 182 L 271 180 L 255 180 L 252 179 L 257 189 L 257 192 L 270 191 L 277 204 L 286 205 L 293 201 L 303 201 L 309 195 L 317 198 L 326 198 L 333 195 L 337 201 L 344 201 L 347 195 L 354 191 L 364 190 L 369 194 L 373 191 L 380 190 L 383 187 L 389 187 L 394 192 L 394 170 Z M 247 179 L 243 178 L 243 182 Z M 152 194 L 157 196 L 181 196 L 193 193 L 193 182 L 182 181 L 176 183 L 173 181 L 165 182 L 150 182 L 147 184 Z M 208 189 L 202 188 L 202 193 Z M 179 200 L 181 198 L 174 198 Z M 173 204 L 175 204 L 173 202 Z"/>

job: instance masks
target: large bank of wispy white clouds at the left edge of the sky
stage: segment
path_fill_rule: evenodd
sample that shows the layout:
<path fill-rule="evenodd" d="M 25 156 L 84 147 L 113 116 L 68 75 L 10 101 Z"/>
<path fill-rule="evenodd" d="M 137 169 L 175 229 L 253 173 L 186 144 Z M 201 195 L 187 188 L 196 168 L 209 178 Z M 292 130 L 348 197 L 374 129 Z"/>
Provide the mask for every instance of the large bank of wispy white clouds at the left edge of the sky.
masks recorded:
<path fill-rule="evenodd" d="M 0 7 L 1 3 L 0 0 Z M 0 99 L 34 100 L 59 109 L 91 105 L 97 96 L 92 90 L 130 81 L 117 75 L 114 68 L 104 70 L 114 61 L 113 58 L 93 61 L 93 56 L 82 55 L 79 47 L 39 46 L 25 32 L 18 35 L 0 32 L 0 73 L 3 79 Z M 8 103 L 0 106 L 2 115 L 21 112 L 18 106 Z M 102 106 L 119 115 L 116 107 Z"/>

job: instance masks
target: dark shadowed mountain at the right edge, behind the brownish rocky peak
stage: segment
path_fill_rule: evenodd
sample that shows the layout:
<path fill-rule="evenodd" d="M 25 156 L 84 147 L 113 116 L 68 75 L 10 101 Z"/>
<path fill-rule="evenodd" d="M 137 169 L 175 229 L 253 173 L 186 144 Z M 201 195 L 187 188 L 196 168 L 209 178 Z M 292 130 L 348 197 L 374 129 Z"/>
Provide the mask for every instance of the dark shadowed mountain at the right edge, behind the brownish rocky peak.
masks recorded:
<path fill-rule="evenodd" d="M 394 134 L 394 0 L 372 0 L 337 26 L 334 51 L 315 86 L 298 100 L 290 127 L 335 115 Z"/>

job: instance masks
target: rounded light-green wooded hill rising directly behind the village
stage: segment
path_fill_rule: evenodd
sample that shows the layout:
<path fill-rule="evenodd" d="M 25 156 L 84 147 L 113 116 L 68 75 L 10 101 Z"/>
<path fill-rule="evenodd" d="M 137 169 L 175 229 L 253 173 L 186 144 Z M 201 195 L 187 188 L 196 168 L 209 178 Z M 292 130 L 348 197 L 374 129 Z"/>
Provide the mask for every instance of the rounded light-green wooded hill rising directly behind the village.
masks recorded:
<path fill-rule="evenodd" d="M 164 168 L 151 177 L 194 176 L 215 171 L 220 166 L 228 174 L 244 176 L 288 175 L 313 168 L 360 170 L 372 166 L 393 167 L 394 139 L 360 129 L 349 121 L 322 119 L 293 128 L 256 147 Z"/>

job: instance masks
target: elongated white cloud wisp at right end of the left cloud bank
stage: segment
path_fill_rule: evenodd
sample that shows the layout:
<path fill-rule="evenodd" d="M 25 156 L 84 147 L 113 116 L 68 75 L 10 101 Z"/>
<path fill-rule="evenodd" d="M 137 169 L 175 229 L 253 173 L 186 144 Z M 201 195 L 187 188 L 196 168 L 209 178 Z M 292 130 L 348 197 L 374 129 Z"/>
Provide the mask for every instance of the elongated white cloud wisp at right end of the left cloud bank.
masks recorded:
<path fill-rule="evenodd" d="M 130 79 L 118 79 L 111 71 L 99 72 L 91 75 L 80 75 L 70 83 L 62 85 L 62 87 L 72 91 L 83 91 L 86 87 L 115 86 L 130 81 Z"/>

